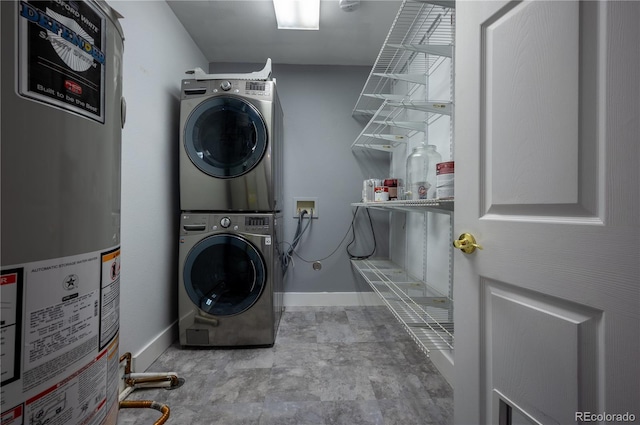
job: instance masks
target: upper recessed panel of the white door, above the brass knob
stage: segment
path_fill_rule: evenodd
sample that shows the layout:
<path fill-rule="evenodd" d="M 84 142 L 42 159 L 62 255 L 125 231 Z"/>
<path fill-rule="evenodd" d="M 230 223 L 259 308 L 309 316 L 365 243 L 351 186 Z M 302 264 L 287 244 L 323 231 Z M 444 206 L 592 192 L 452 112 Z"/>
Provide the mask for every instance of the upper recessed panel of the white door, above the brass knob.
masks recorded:
<path fill-rule="evenodd" d="M 509 2 L 481 26 L 481 217 L 601 222 L 591 3 Z"/>

